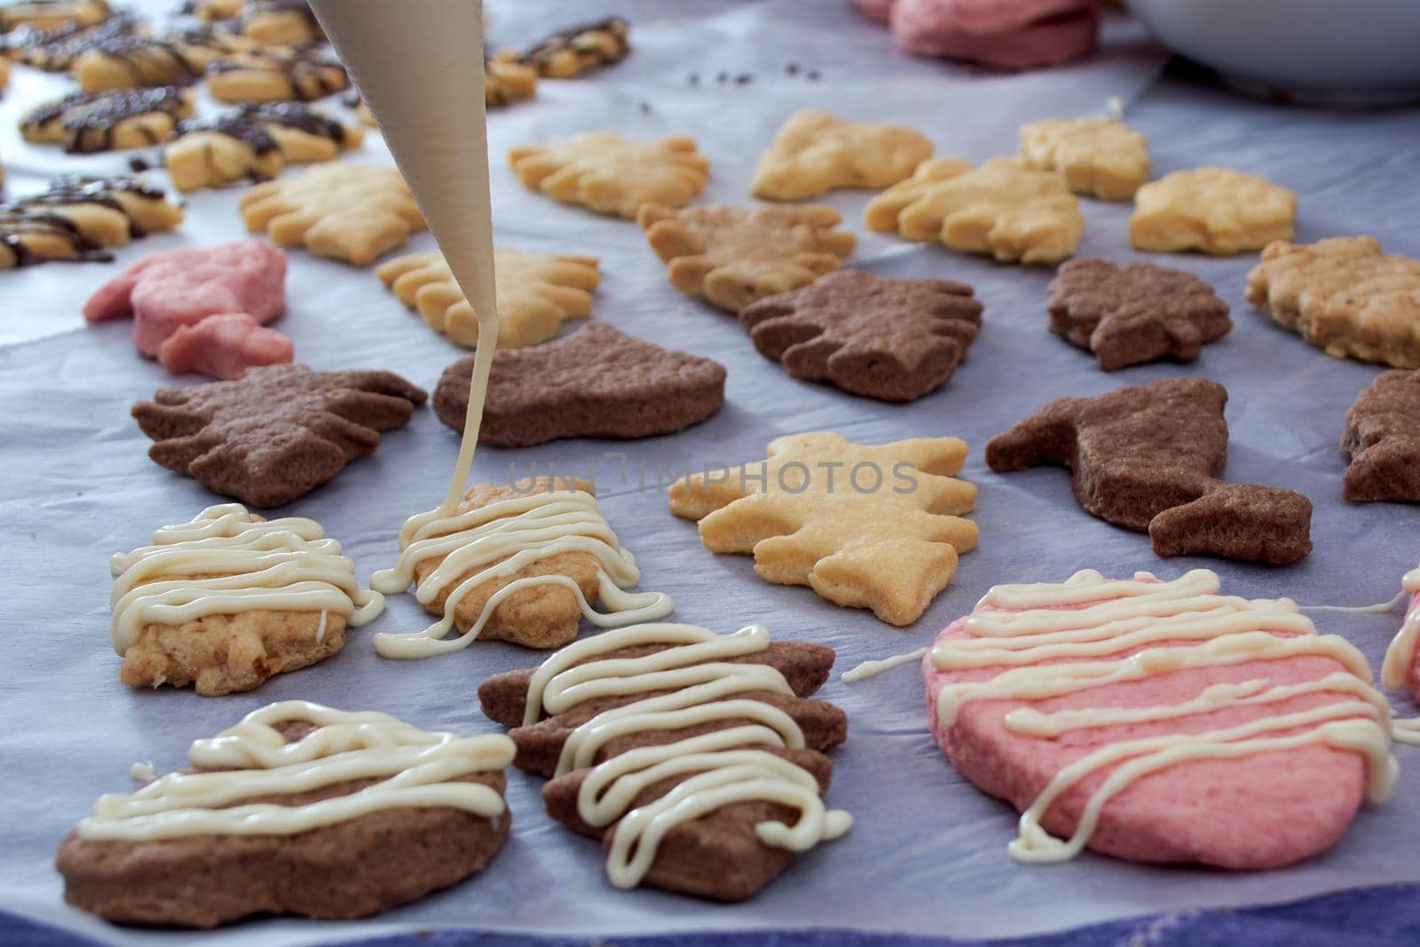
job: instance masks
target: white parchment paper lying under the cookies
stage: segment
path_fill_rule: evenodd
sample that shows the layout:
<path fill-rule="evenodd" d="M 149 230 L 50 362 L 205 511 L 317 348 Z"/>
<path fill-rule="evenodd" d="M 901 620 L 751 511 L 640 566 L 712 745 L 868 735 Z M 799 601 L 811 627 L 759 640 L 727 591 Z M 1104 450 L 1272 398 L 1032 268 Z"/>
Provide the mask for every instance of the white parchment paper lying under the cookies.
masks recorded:
<path fill-rule="evenodd" d="M 166 6 L 166 4 L 163 4 Z M 866 657 L 910 650 L 970 611 L 997 582 L 1058 581 L 1093 566 L 1125 575 L 1153 569 L 1176 576 L 1217 569 L 1225 589 L 1301 602 L 1363 603 L 1390 598 L 1417 558 L 1416 510 L 1400 504 L 1348 505 L 1339 498 L 1345 459 L 1342 419 L 1376 368 L 1333 361 L 1274 327 L 1242 301 L 1251 258 L 1177 257 L 1166 263 L 1201 274 L 1234 307 L 1235 329 L 1187 366 L 1149 365 L 1113 375 L 1045 329 L 1049 273 L 995 266 L 936 246 L 869 234 L 866 195 L 831 203 L 859 237 L 852 264 L 890 275 L 951 277 L 976 285 L 985 328 L 970 359 L 940 392 L 890 406 L 787 378 L 761 359 L 728 315 L 676 292 L 635 224 L 567 209 L 524 192 L 503 165 L 506 148 L 616 128 L 633 138 L 689 133 L 713 162 L 707 202 L 746 199 L 754 158 L 797 108 L 826 108 L 851 119 L 900 121 L 930 135 L 940 155 L 981 160 L 1011 153 L 1017 126 L 1048 115 L 1102 109 L 1108 95 L 1130 102 L 1129 121 L 1149 135 L 1154 173 L 1220 163 L 1261 173 L 1301 195 L 1298 239 L 1373 233 L 1390 251 L 1420 256 L 1414 169 L 1416 115 L 1404 111 L 1322 112 L 1264 105 L 1208 87 L 1156 81 L 1163 55 L 1123 23 L 1086 64 L 1025 75 L 978 74 L 897 55 L 888 34 L 845 3 L 598 3 L 490 4 L 494 41 L 523 43 L 602 11 L 635 23 L 635 53 L 622 65 L 578 82 L 540 84 L 537 99 L 496 112 L 494 213 L 498 241 L 525 250 L 592 253 L 604 283 L 594 318 L 638 336 L 721 361 L 730 369 L 726 407 L 672 437 L 632 443 L 559 442 L 531 450 L 483 449 L 477 478 L 575 469 L 606 491 L 604 510 L 642 568 L 642 588 L 674 596 L 679 620 L 733 630 L 768 623 L 785 639 L 838 649 L 836 670 Z M 790 62 L 799 65 L 788 75 Z M 809 81 L 808 70 L 821 78 Z M 699 84 L 689 82 L 689 74 Z M 730 80 L 717 82 L 726 72 Z M 737 84 L 734 77 L 750 75 Z M 16 146 L 23 99 L 40 87 L 16 71 L 0 102 L 0 153 L 11 193 L 75 166 L 57 149 Z M 1147 91 L 1146 91 L 1147 89 Z M 33 101 L 33 99 L 31 99 Z M 385 162 L 378 139 L 351 160 Z M 77 166 L 121 169 L 124 156 Z M 0 633 L 0 907 L 82 929 L 114 943 L 312 943 L 372 934 L 392 926 L 467 924 L 530 931 L 626 934 L 653 930 L 764 926 L 848 926 L 953 936 L 1008 936 L 1126 914 L 1304 897 L 1339 887 L 1420 879 L 1420 762 L 1397 748 L 1403 774 L 1394 798 L 1362 811 L 1325 855 L 1294 869 L 1220 873 L 1154 869 L 1085 855 L 1054 867 L 1012 863 L 1005 845 L 1015 815 L 964 784 L 926 733 L 922 681 L 903 667 L 822 697 L 851 717 L 848 743 L 834 754 L 832 805 L 853 812 L 851 835 L 799 858 L 757 899 L 707 904 L 653 890 L 618 892 L 605 880 L 598 846 L 548 819 L 541 779 L 513 772 L 514 829 L 477 879 L 361 924 L 264 920 L 210 934 L 125 931 L 61 903 L 53 870 L 62 835 L 105 791 L 125 791 L 129 764 L 159 771 L 183 765 L 196 737 L 230 726 L 273 700 L 304 697 L 339 707 L 395 713 L 427 728 L 494 731 L 474 704 L 487 674 L 535 663 L 541 655 L 479 643 L 425 662 L 389 662 L 369 646 L 375 630 L 417 630 L 426 616 L 409 596 L 390 599 L 373 626 L 349 635 L 325 663 L 283 674 L 254 693 L 200 699 L 190 690 L 135 691 L 118 683 L 108 643 L 111 552 L 148 542 L 153 528 L 219 503 L 192 480 L 145 456 L 148 440 L 128 415 L 131 402 L 172 383 L 132 348 L 122 322 L 84 328 L 88 292 L 142 254 L 170 246 L 243 236 L 240 190 L 189 197 L 187 221 L 119 253 L 115 266 L 43 266 L 0 274 L 0 488 L 6 542 L 0 547 L 7 609 Z M 1129 207 L 1083 202 L 1082 256 L 1139 258 L 1127 248 Z M 409 247 L 432 247 L 427 234 Z M 432 388 L 462 352 L 432 334 L 385 291 L 371 271 L 290 254 L 288 314 L 277 328 L 295 339 L 297 358 L 318 368 L 388 368 Z M 1172 375 L 1204 375 L 1231 392 L 1227 476 L 1305 493 L 1316 504 L 1315 552 L 1289 568 L 1224 561 L 1160 561 L 1145 535 L 1079 510 L 1059 470 L 995 476 L 981 461 L 985 440 L 1049 398 L 1092 395 Z M 187 378 L 183 382 L 200 379 Z M 963 557 L 951 585 L 909 629 L 841 609 L 804 588 L 772 586 L 753 575 L 748 557 L 706 552 L 693 524 L 666 511 L 655 490 L 657 464 L 738 463 L 763 457 L 782 433 L 831 429 L 863 442 L 956 434 L 973 447 L 964 476 L 980 487 L 981 545 Z M 412 513 L 443 496 L 457 439 L 422 410 L 379 451 L 281 510 L 314 517 L 346 545 L 362 576 L 390 565 L 395 534 Z M 621 480 L 625 456 L 628 477 Z M 648 487 L 639 487 L 646 473 Z M 1397 615 L 1321 616 L 1379 666 Z M 1400 706 L 1397 703 L 1397 706 Z"/>

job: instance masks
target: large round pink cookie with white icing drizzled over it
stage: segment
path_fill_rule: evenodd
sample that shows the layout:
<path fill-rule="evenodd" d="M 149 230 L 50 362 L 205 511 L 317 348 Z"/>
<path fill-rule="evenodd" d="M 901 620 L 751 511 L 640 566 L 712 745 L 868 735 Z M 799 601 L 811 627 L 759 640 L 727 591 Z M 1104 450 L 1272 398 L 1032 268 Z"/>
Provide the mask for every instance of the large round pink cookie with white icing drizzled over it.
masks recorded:
<path fill-rule="evenodd" d="M 1024 815 L 1011 856 L 1228 869 L 1326 849 L 1394 781 L 1365 657 L 1194 569 L 993 588 L 923 660 L 947 760 Z"/>

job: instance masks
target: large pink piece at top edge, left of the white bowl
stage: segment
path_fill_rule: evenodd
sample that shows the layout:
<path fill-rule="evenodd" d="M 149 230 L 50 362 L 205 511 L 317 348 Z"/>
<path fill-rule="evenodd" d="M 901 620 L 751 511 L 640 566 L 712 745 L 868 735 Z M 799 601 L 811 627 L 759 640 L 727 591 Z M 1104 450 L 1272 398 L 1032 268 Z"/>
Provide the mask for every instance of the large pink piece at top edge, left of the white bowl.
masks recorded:
<path fill-rule="evenodd" d="M 1022 70 L 1095 48 L 1093 0 L 895 0 L 890 26 L 907 53 Z"/>

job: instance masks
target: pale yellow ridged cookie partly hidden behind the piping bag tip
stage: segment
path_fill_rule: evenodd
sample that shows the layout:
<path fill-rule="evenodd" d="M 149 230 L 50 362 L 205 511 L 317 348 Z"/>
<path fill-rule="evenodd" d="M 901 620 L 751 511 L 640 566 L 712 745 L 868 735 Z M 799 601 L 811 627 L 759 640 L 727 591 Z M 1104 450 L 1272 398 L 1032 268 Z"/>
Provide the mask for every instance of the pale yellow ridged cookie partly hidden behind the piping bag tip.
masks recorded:
<path fill-rule="evenodd" d="M 545 342 L 564 321 L 592 311 L 592 290 L 601 281 L 596 257 L 497 247 L 493 264 L 500 349 Z M 436 332 L 467 348 L 479 344 L 479 318 L 437 250 L 395 257 L 382 263 L 375 275 Z"/>

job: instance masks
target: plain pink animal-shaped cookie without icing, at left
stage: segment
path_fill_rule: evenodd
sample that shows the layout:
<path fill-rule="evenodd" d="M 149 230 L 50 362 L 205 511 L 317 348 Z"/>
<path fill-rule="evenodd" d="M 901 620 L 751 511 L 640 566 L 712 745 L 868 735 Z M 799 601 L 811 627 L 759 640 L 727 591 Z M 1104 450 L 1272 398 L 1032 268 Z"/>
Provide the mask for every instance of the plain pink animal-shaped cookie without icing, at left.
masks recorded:
<path fill-rule="evenodd" d="M 133 344 L 149 356 L 160 356 L 169 336 L 183 327 L 196 327 L 209 317 L 244 314 L 257 325 L 270 322 L 285 310 L 285 254 L 260 240 L 224 243 L 216 247 L 165 250 L 153 253 L 105 283 L 84 304 L 89 322 L 133 318 Z M 264 344 L 253 344 L 253 334 L 234 331 L 233 322 L 213 327 L 196 339 L 180 342 L 162 358 L 169 371 L 202 365 L 222 366 L 217 378 L 237 378 L 251 365 L 270 365 L 277 346 L 274 329 L 264 329 Z M 203 355 L 187 354 L 200 348 Z M 220 352 L 219 352 L 220 349 Z M 183 352 L 179 355 L 179 352 Z M 247 361 L 247 356 L 254 361 Z M 291 361 L 290 342 L 285 358 Z M 183 365 L 183 369 L 173 369 Z M 236 372 L 234 375 L 230 372 Z"/>

